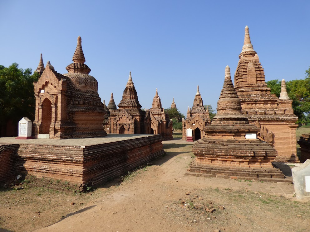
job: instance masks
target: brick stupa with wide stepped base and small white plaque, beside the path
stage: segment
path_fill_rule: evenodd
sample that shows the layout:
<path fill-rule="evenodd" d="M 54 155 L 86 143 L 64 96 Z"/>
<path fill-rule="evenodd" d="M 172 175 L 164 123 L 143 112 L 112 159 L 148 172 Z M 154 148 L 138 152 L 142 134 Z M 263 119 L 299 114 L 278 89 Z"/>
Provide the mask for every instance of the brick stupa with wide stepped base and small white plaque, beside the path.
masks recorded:
<path fill-rule="evenodd" d="M 241 113 L 240 100 L 228 66 L 225 68 L 217 114 L 204 131 L 205 137 L 193 145 L 196 159 L 190 164 L 188 174 L 287 182 L 283 173 L 271 164 L 277 151 L 256 138 L 258 128 L 249 124 Z"/>

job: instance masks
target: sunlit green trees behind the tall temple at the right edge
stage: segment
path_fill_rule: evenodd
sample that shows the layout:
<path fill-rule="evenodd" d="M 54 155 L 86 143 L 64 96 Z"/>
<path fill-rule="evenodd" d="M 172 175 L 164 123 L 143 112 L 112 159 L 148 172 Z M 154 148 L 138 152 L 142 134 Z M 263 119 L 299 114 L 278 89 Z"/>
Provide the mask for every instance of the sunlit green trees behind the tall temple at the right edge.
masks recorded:
<path fill-rule="evenodd" d="M 286 82 L 288 96 L 293 100 L 292 108 L 294 114 L 298 116 L 299 124 L 307 124 L 309 121 L 307 114 L 310 113 L 310 68 L 305 74 L 305 79 Z M 277 97 L 280 96 L 281 81 L 278 79 L 268 81 L 267 86 L 271 89 L 271 93 L 276 94 Z"/>

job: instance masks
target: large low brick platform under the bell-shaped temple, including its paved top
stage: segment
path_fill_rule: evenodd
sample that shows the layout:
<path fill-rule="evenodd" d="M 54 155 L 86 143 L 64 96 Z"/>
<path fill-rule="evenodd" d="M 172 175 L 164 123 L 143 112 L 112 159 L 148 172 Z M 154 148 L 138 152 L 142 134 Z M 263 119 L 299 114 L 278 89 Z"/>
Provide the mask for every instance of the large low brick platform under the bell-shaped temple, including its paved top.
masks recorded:
<path fill-rule="evenodd" d="M 0 138 L 0 160 L 10 163 L 0 181 L 22 173 L 34 185 L 67 190 L 84 191 L 165 153 L 160 135 L 16 141 L 14 137 Z"/>

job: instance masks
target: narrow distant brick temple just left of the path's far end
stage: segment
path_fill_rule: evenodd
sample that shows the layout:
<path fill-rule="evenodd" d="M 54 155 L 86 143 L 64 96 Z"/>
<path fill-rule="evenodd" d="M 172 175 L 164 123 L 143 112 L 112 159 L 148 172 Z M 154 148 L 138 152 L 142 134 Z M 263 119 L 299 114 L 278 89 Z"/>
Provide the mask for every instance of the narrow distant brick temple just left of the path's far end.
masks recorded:
<path fill-rule="evenodd" d="M 165 113 L 164 108 L 161 107 L 161 101 L 157 88 L 153 98 L 152 107 L 150 108 L 150 117 L 151 134 L 162 135 L 164 140 L 173 140 L 172 121 L 170 121 L 169 115 Z"/>

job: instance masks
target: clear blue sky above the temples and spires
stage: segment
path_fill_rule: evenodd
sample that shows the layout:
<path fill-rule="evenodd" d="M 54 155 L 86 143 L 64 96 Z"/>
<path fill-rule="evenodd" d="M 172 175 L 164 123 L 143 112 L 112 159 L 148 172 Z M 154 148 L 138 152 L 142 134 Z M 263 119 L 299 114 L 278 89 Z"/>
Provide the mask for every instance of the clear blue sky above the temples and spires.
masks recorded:
<path fill-rule="evenodd" d="M 197 85 L 217 106 L 224 69 L 234 75 L 249 32 L 266 81 L 305 77 L 310 1 L 0 1 L 0 65 L 35 70 L 40 53 L 67 73 L 78 36 L 101 99 L 121 100 L 129 71 L 143 108 L 155 89 L 181 112 Z"/>

